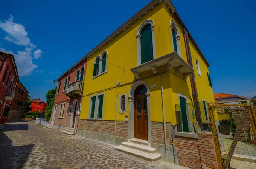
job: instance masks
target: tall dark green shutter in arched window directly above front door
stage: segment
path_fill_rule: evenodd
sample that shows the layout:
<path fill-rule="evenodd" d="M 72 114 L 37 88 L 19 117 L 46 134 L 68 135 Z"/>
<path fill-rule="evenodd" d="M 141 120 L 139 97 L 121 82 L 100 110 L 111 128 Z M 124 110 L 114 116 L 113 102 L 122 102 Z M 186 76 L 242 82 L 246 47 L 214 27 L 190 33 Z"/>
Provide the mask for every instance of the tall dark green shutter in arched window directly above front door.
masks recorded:
<path fill-rule="evenodd" d="M 146 25 L 141 31 L 140 49 L 141 64 L 153 60 L 151 25 Z"/>

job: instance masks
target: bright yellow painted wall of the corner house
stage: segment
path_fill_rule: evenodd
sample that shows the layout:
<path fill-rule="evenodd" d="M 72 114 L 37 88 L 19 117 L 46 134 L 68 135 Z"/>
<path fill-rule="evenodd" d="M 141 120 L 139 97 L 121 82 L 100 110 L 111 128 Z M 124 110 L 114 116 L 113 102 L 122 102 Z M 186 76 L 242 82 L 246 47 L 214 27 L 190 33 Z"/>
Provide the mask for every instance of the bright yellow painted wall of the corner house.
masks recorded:
<path fill-rule="evenodd" d="M 170 30 L 170 21 L 173 20 L 171 14 L 164 3 L 155 6 L 154 10 L 150 10 L 148 14 L 143 15 L 140 20 L 137 20 L 135 24 L 132 24 L 130 28 L 122 32 L 121 35 L 114 38 L 108 45 L 105 45 L 100 51 L 88 58 L 87 60 L 87 72 L 85 76 L 84 84 L 84 97 L 81 107 L 81 119 L 87 119 L 88 111 L 90 106 L 90 97 L 94 94 L 105 93 L 104 107 L 103 107 L 103 120 L 114 120 L 116 112 L 116 92 L 118 92 L 118 107 L 117 107 L 117 120 L 125 120 L 125 115 L 129 113 L 128 98 L 126 101 L 127 110 L 122 115 L 119 113 L 119 97 L 122 93 L 129 96 L 129 90 L 132 83 L 135 82 L 136 78 L 130 71 L 131 68 L 137 66 L 137 30 L 141 23 L 145 20 L 153 20 L 155 25 L 155 50 L 156 57 L 161 57 L 163 55 L 173 52 L 172 47 L 172 32 Z M 180 34 L 180 46 L 182 58 L 187 62 L 186 49 L 183 37 L 182 28 L 176 22 L 176 25 Z M 199 77 L 195 69 L 196 83 L 198 87 L 198 97 L 199 100 L 205 99 L 206 101 L 214 101 L 212 88 L 209 87 L 207 79 L 207 65 L 202 60 L 201 56 L 198 55 L 190 45 L 193 64 L 195 65 L 194 55 L 200 60 L 201 72 L 204 76 Z M 122 68 L 118 68 L 115 65 L 107 63 L 107 72 L 93 78 L 93 63 L 96 56 L 102 54 L 103 51 L 108 52 L 107 61 L 118 65 Z M 158 72 L 165 72 L 166 66 L 158 68 Z M 174 72 L 172 70 L 172 72 Z M 140 77 L 151 76 L 152 71 L 147 71 L 141 73 Z M 190 78 L 188 77 L 186 81 L 182 80 L 179 76 L 175 76 L 173 73 L 164 73 L 162 75 L 163 80 L 163 90 L 164 90 L 164 106 L 166 112 L 166 121 L 176 124 L 175 118 L 175 104 L 179 104 L 178 93 L 188 97 L 189 102 L 191 102 L 191 85 Z M 93 79 L 92 79 L 93 78 Z M 113 88 L 116 86 L 116 82 L 119 81 L 121 84 L 126 84 L 122 87 Z M 153 76 L 144 79 L 150 90 L 150 107 L 151 107 L 151 121 L 163 121 L 162 115 L 162 102 L 161 102 L 161 76 Z M 151 88 L 152 84 L 156 84 L 155 88 Z M 99 92 L 100 90 L 104 90 Z"/>

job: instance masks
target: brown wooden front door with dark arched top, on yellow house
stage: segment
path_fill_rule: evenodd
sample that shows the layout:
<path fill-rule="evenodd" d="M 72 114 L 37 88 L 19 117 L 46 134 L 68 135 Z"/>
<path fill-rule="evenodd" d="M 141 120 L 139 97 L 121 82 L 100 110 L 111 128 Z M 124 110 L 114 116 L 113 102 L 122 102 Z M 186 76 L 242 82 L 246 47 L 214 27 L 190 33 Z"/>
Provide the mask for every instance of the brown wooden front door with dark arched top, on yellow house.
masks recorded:
<path fill-rule="evenodd" d="M 148 140 L 148 106 L 147 92 L 144 85 L 140 85 L 134 92 L 134 138 Z"/>

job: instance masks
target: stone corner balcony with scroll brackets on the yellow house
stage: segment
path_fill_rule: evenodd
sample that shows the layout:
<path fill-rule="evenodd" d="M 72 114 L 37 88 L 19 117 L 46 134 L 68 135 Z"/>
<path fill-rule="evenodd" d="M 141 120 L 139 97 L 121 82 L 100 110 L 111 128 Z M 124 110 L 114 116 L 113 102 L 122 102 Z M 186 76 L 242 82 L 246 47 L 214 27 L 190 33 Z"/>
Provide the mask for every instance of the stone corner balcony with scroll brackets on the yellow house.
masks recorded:
<path fill-rule="evenodd" d="M 152 70 L 153 74 L 157 74 L 157 68 L 163 65 L 166 65 L 167 70 L 169 71 L 171 71 L 172 68 L 175 68 L 174 70 L 176 76 L 178 73 L 182 73 L 183 80 L 186 80 L 187 77 L 194 71 L 193 68 L 187 64 L 176 52 L 172 52 L 157 59 L 143 63 L 131 68 L 130 70 L 135 75 L 136 79 L 140 79 L 140 73 Z"/>

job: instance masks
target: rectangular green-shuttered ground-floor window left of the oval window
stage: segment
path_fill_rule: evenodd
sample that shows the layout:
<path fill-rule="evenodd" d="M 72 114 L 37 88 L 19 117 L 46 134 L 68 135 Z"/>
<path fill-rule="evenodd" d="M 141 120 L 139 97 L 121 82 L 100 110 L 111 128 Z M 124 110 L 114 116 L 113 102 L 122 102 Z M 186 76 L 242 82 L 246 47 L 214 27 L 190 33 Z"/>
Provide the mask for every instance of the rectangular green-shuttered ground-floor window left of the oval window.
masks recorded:
<path fill-rule="evenodd" d="M 104 94 L 91 97 L 89 118 L 102 118 Z"/>

